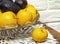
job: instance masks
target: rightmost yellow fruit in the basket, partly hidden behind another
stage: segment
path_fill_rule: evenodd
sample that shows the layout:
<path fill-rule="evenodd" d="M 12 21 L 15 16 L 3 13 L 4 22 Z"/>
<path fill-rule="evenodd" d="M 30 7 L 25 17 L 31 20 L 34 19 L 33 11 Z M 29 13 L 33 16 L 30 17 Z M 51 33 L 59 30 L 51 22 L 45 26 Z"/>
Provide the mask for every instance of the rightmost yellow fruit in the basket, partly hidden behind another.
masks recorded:
<path fill-rule="evenodd" d="M 33 5 L 27 4 L 26 9 L 27 9 L 27 11 L 31 12 L 31 14 L 32 14 L 32 16 L 33 16 L 32 21 L 34 21 L 38 18 L 38 16 L 39 16 L 38 11 Z"/>

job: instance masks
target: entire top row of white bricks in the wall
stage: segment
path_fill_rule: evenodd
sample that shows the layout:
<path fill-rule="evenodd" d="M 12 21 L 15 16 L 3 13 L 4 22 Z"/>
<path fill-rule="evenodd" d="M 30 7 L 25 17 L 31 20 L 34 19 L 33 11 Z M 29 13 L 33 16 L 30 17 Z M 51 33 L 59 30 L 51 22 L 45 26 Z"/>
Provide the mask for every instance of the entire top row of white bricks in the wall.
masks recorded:
<path fill-rule="evenodd" d="M 60 0 L 27 0 L 38 10 L 60 9 Z"/>

